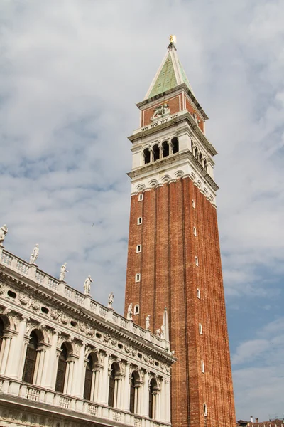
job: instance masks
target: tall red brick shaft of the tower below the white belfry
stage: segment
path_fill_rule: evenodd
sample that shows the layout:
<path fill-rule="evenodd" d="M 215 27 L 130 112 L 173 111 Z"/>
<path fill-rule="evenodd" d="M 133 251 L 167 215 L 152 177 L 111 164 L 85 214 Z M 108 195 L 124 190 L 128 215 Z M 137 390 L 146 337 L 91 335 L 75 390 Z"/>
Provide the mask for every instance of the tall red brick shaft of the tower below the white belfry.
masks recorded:
<path fill-rule="evenodd" d="M 139 243 L 141 254 L 136 253 Z M 178 357 L 171 385 L 173 426 L 235 426 L 217 212 L 188 178 L 146 191 L 143 201 L 131 197 L 126 311 L 130 302 L 140 306 L 134 321 L 141 326 L 151 315 L 152 332 L 168 308 L 171 349 Z"/>

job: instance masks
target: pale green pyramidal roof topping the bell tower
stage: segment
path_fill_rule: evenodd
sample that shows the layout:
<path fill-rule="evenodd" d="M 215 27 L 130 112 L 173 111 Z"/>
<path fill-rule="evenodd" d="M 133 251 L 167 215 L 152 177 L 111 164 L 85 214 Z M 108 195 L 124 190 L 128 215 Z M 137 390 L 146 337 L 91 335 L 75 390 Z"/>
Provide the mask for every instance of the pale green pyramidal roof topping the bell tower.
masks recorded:
<path fill-rule="evenodd" d="M 163 58 L 160 68 L 158 69 L 158 73 L 155 75 L 144 100 L 155 95 L 159 95 L 166 90 L 173 89 L 182 83 L 185 83 L 192 95 L 194 95 L 190 82 L 185 74 L 185 70 L 178 59 L 175 45 L 174 43 L 170 43 L 168 46 L 168 52 L 165 54 L 165 58 Z"/>

